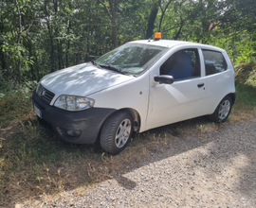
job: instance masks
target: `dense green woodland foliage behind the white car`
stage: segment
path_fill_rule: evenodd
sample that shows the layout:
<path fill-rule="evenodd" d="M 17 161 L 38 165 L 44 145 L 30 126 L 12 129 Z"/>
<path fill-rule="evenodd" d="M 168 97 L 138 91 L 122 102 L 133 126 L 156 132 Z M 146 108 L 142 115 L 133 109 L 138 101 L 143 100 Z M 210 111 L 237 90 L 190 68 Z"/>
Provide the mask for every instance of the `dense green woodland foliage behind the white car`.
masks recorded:
<path fill-rule="evenodd" d="M 123 44 L 151 36 L 161 19 L 163 39 L 217 45 L 235 63 L 255 59 L 253 0 L 128 0 L 117 1 L 116 8 L 111 2 L 4 0 L 2 77 L 9 83 L 39 81 L 50 72 L 96 59 L 114 48 L 115 37 Z"/>

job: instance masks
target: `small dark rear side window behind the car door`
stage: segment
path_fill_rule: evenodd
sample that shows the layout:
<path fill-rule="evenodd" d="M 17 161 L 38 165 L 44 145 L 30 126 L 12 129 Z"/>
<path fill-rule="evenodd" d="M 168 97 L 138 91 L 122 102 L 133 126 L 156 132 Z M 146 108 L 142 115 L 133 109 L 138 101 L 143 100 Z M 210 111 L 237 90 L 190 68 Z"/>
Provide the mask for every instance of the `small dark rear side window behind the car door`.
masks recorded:
<path fill-rule="evenodd" d="M 206 76 L 224 72 L 228 64 L 221 52 L 212 50 L 202 50 L 206 66 Z"/>

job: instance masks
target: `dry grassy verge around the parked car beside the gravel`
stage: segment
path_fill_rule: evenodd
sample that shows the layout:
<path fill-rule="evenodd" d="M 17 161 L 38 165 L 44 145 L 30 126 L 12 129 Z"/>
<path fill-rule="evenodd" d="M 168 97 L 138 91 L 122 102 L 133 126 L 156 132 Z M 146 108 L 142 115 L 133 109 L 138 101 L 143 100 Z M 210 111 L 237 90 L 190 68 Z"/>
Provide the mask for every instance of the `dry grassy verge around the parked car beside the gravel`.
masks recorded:
<path fill-rule="evenodd" d="M 239 73 L 246 73 L 244 66 L 236 75 L 237 100 L 228 124 L 256 116 L 254 74 L 241 78 Z M 135 135 L 129 147 L 112 156 L 100 147 L 69 144 L 48 134 L 38 125 L 30 95 L 30 91 L 17 91 L 5 93 L 5 98 L 0 99 L 0 206 L 3 207 L 49 198 L 67 190 L 79 192 L 94 183 L 115 178 L 124 170 L 137 168 L 157 147 L 223 126 L 199 117 L 148 130 Z"/>

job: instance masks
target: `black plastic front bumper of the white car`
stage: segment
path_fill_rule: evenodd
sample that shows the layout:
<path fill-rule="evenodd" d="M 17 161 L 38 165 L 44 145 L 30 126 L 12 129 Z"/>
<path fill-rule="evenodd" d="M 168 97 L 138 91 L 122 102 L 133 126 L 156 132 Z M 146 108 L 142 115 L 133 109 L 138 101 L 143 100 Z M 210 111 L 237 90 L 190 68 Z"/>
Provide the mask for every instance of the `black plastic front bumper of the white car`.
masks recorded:
<path fill-rule="evenodd" d="M 95 143 L 103 122 L 116 111 L 107 108 L 91 108 L 81 112 L 68 112 L 46 104 L 35 91 L 32 100 L 42 113 L 42 118 L 38 117 L 39 123 L 59 138 L 72 143 Z M 81 134 L 70 135 L 68 133 L 70 131 L 81 132 Z"/>

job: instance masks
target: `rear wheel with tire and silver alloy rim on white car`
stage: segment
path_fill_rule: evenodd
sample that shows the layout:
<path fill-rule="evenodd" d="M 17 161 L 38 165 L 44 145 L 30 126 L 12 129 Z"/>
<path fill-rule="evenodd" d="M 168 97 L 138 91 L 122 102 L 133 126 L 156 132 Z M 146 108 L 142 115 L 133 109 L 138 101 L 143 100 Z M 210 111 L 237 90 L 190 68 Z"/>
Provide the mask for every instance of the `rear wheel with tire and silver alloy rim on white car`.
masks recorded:
<path fill-rule="evenodd" d="M 223 123 L 229 117 L 232 109 L 232 99 L 229 95 L 225 96 L 217 106 L 214 113 L 210 114 L 210 120 L 215 123 Z"/>

